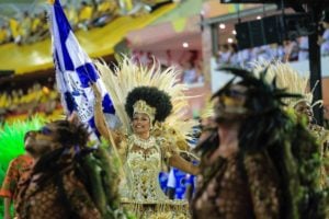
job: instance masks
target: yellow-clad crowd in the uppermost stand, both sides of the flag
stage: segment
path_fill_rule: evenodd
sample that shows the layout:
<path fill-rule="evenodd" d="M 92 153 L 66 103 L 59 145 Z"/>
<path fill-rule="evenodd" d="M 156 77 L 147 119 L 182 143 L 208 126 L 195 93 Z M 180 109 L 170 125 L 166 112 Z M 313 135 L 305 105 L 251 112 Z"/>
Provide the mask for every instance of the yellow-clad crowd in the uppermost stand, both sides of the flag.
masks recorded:
<path fill-rule="evenodd" d="M 140 15 L 150 12 L 168 0 L 84 0 L 79 4 L 67 1 L 64 10 L 72 30 L 88 31 L 101 27 L 120 15 Z M 22 11 L 10 18 L 0 13 L 0 45 L 7 43 L 31 44 L 49 37 L 47 11 Z M 41 12 L 36 12 L 41 11 Z"/>

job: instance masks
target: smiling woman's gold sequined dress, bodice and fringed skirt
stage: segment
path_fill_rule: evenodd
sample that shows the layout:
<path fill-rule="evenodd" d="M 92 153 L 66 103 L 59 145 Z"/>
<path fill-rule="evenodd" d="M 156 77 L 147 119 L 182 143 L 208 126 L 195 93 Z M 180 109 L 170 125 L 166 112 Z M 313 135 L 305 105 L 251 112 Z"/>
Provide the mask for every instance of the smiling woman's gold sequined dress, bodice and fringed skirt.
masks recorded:
<path fill-rule="evenodd" d="M 122 204 L 137 218 L 189 218 L 188 201 L 169 199 L 160 187 L 159 173 L 172 154 L 162 143 L 152 136 L 143 140 L 135 135 L 121 142 L 126 173 L 121 185 Z"/>

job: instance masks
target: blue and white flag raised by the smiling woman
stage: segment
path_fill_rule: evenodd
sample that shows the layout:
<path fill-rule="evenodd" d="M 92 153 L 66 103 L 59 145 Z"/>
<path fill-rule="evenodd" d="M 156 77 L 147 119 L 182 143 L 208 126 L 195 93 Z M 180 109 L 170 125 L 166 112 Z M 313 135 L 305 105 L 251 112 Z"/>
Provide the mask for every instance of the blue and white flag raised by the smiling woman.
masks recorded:
<path fill-rule="evenodd" d="M 90 83 L 97 83 L 103 96 L 103 112 L 114 114 L 113 103 L 88 55 L 80 47 L 59 0 L 50 10 L 50 32 L 56 81 L 67 115 L 77 112 L 80 120 L 94 130 L 94 94 Z"/>

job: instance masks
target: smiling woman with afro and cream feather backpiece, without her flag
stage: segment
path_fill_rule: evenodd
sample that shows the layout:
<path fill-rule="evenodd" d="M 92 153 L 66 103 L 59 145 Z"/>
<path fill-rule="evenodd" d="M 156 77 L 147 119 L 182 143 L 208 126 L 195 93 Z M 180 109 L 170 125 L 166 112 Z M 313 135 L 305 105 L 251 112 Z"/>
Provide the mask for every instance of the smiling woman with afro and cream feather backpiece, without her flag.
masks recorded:
<path fill-rule="evenodd" d="M 133 64 L 128 58 L 124 58 L 116 72 L 111 72 L 101 64 L 97 67 L 116 114 L 123 124 L 126 122 L 121 129 L 110 128 L 101 111 L 102 96 L 93 87 L 95 125 L 103 137 L 114 139 L 125 168 L 122 204 L 137 218 L 188 218 L 188 201 L 170 200 L 161 191 L 158 178 L 166 165 L 197 173 L 197 168 L 179 153 L 186 143 L 181 132 L 186 126 L 192 131 L 193 124 L 189 125 L 188 120 L 178 117 L 186 103 L 182 102 L 185 101 L 181 90 L 184 87 L 177 84 L 177 72 L 174 69 L 161 71 L 156 64 L 148 69 Z"/>

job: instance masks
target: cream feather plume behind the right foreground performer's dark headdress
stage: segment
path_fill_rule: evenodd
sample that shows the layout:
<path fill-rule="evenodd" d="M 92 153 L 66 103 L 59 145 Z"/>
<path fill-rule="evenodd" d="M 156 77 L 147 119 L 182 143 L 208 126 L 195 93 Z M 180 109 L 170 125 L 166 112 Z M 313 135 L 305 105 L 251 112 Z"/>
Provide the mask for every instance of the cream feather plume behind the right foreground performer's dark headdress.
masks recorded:
<path fill-rule="evenodd" d="M 259 73 L 268 68 L 266 80 L 272 82 L 275 78 L 276 85 L 280 89 L 286 89 L 288 93 L 302 94 L 303 99 L 285 99 L 287 106 L 295 106 L 300 101 L 307 101 L 311 104 L 313 91 L 309 89 L 309 77 L 302 76 L 293 69 L 290 64 L 275 62 L 253 62 L 254 72 Z"/>

